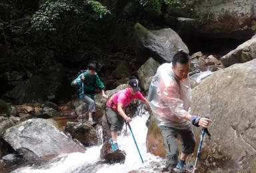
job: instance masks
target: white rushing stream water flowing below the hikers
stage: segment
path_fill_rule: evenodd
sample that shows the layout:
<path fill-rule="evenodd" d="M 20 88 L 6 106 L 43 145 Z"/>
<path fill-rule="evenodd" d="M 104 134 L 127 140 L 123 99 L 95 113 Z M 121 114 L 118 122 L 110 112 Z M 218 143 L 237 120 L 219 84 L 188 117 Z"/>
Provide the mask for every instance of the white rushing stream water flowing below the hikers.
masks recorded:
<path fill-rule="evenodd" d="M 158 156 L 147 153 L 146 148 L 146 136 L 147 136 L 147 126 L 145 122 L 147 116 L 143 114 L 142 116 L 136 116 L 133 121 L 130 122 L 131 130 L 137 142 L 139 151 L 144 160 L 144 164 L 141 162 L 139 152 L 136 148 L 133 136 L 127 126 L 127 135 L 125 135 L 125 126 L 121 132 L 121 135 L 117 137 L 117 142 L 119 148 L 126 152 L 125 162 L 123 164 L 108 164 L 101 160 L 100 146 L 93 146 L 87 148 L 84 153 L 74 152 L 71 154 L 62 154 L 53 158 L 47 164 L 41 166 L 28 166 L 19 168 L 13 173 L 67 173 L 67 172 L 97 172 L 97 173 L 107 173 L 107 172 L 123 172 L 127 173 L 131 170 L 141 170 L 143 172 L 157 172 L 155 169 L 157 163 L 163 160 Z"/>

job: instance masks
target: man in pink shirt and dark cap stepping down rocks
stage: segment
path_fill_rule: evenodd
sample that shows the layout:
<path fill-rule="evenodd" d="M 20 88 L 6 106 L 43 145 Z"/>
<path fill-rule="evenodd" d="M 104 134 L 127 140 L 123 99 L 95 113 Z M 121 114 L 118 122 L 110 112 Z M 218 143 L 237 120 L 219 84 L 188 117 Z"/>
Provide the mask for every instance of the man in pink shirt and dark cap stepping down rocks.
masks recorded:
<path fill-rule="evenodd" d="M 124 122 L 131 122 L 131 118 L 125 114 L 124 108 L 130 104 L 132 100 L 139 99 L 144 102 L 148 108 L 149 104 L 147 99 L 141 94 L 139 80 L 131 79 L 129 81 L 129 86 L 124 90 L 113 94 L 107 101 L 107 122 L 110 124 L 111 130 L 111 143 L 112 150 L 119 150 L 117 144 L 117 131 L 121 131 Z"/>

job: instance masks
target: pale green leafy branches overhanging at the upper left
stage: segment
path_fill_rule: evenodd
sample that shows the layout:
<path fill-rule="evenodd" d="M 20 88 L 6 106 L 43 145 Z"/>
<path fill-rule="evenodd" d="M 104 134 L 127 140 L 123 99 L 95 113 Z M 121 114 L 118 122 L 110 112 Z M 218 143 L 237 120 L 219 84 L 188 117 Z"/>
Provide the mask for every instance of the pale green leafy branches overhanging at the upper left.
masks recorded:
<path fill-rule="evenodd" d="M 33 15 L 31 28 L 36 31 L 57 31 L 61 23 L 76 25 L 88 19 L 97 20 L 100 14 L 107 13 L 110 12 L 98 1 L 42 0 L 39 11 Z"/>

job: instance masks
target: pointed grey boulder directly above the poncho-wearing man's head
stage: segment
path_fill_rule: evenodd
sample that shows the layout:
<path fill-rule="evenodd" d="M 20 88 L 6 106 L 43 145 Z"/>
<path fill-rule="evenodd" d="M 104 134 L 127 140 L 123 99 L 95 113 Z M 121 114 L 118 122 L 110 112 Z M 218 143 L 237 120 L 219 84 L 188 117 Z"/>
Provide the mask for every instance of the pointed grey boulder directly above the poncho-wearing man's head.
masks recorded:
<path fill-rule="evenodd" d="M 136 56 L 137 61 L 145 63 L 149 57 L 159 61 L 159 63 L 171 62 L 173 55 L 179 50 L 189 53 L 189 49 L 181 40 L 181 37 L 172 29 L 161 29 L 159 31 L 149 31 L 142 25 L 135 25 L 136 33 Z"/>

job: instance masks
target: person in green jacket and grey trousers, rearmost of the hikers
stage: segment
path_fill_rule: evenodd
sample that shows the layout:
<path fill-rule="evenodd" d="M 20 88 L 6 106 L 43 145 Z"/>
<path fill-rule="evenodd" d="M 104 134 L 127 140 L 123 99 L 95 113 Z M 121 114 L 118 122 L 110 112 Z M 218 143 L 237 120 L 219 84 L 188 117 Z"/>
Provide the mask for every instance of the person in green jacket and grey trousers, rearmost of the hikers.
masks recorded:
<path fill-rule="evenodd" d="M 95 124 L 93 120 L 93 114 L 95 114 L 95 88 L 100 88 L 103 98 L 108 98 L 105 94 L 105 86 L 99 79 L 99 76 L 96 73 L 95 63 L 90 63 L 87 66 L 87 71 L 81 73 L 77 79 L 71 82 L 71 86 L 78 88 L 79 98 L 85 103 L 88 104 L 89 120 L 88 122 L 91 125 Z"/>

